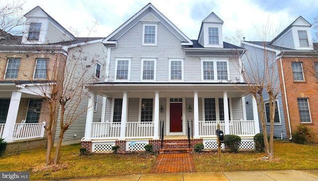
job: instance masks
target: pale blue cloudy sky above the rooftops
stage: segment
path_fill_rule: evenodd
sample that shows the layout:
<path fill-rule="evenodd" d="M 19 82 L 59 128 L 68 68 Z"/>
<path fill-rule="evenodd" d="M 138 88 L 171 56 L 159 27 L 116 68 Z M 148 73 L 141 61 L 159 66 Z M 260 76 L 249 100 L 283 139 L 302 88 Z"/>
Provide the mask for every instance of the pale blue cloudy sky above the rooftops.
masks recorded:
<path fill-rule="evenodd" d="M 0 3 L 4 3 L 1 0 Z M 257 30 L 269 20 L 277 35 L 297 17 L 309 23 L 318 15 L 318 0 L 25 0 L 26 12 L 39 5 L 66 29 L 80 37 L 106 37 L 151 2 L 190 39 L 197 39 L 202 20 L 211 12 L 223 21 L 223 37 L 241 30 L 247 41 L 258 41 Z M 97 19 L 96 32 L 87 27 Z"/>

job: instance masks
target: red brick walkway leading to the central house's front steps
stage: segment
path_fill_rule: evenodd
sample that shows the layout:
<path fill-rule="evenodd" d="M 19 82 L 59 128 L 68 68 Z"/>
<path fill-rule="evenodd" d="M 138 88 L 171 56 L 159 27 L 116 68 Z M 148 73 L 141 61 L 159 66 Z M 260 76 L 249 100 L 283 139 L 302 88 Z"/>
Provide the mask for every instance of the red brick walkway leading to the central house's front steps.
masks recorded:
<path fill-rule="evenodd" d="M 151 174 L 196 172 L 193 157 L 188 153 L 159 154 Z"/>

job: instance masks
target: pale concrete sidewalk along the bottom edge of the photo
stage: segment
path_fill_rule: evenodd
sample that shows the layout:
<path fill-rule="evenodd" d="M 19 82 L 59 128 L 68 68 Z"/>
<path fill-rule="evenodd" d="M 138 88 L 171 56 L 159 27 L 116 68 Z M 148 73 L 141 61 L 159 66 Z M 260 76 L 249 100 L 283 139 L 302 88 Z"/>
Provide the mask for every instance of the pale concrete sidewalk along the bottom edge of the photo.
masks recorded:
<path fill-rule="evenodd" d="M 63 181 L 318 181 L 318 170 L 144 174 Z"/>

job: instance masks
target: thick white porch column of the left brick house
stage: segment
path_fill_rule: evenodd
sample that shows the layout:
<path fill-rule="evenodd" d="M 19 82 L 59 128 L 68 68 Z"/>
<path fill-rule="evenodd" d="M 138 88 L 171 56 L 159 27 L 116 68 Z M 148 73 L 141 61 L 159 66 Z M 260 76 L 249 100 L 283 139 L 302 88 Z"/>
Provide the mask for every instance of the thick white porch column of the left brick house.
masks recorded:
<path fill-rule="evenodd" d="M 5 120 L 4 130 L 2 134 L 2 138 L 4 138 L 4 141 L 6 142 L 13 141 L 14 126 L 15 126 L 16 117 L 18 115 L 20 100 L 21 100 L 21 92 L 12 92 L 8 114 Z"/>

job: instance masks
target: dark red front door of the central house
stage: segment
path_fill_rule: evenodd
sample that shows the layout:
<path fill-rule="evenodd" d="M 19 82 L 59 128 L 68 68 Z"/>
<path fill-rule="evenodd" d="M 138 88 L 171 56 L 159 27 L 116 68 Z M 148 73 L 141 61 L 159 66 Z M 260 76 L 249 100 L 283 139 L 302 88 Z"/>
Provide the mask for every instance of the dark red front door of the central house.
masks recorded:
<path fill-rule="evenodd" d="M 170 103 L 170 132 L 182 132 L 182 103 Z"/>

